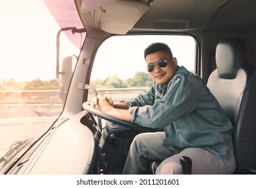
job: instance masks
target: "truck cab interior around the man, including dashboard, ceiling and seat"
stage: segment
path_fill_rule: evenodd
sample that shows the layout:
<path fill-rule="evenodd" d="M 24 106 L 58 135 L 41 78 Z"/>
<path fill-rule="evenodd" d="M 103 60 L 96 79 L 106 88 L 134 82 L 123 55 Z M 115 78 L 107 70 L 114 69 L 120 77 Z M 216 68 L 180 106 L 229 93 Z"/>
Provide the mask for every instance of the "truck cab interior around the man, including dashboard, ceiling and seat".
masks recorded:
<path fill-rule="evenodd" d="M 121 174 L 134 136 L 161 130 L 143 128 L 92 109 L 91 97 L 101 92 L 92 84 L 92 77 L 116 68 L 111 58 L 101 60 L 106 68 L 95 68 L 97 54 L 105 42 L 115 37 L 136 37 L 132 45 L 120 42 L 110 49 L 119 53 L 117 49 L 136 48 L 144 36 L 155 36 L 154 40 L 160 36 L 193 39 L 194 74 L 202 77 L 234 126 L 237 162 L 234 174 L 256 173 L 256 1 L 44 0 L 44 3 L 62 32 L 68 37 L 81 34 L 80 54 L 72 73 L 69 66 L 62 71 L 71 73 L 69 78 L 60 79 L 66 92 L 62 113 L 6 174 Z M 171 39 L 163 39 L 167 40 Z M 187 46 L 185 42 L 177 43 L 181 49 Z M 133 56 L 132 52 L 123 51 L 126 56 Z M 121 71 L 135 68 L 122 64 L 122 58 Z M 154 173 L 159 162 L 151 164 L 155 165 Z M 188 169 L 183 173 L 190 173 L 186 165 L 184 168 Z"/>

